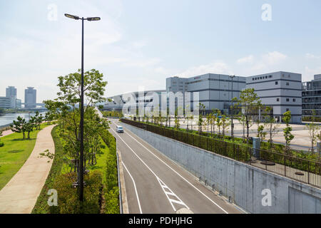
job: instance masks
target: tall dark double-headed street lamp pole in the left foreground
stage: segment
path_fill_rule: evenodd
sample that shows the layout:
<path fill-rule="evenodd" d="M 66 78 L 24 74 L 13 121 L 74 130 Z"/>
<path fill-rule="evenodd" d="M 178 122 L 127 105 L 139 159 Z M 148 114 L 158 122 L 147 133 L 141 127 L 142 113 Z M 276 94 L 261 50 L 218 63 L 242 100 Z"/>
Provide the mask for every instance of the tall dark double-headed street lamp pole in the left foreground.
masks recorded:
<path fill-rule="evenodd" d="M 78 187 L 79 187 L 79 200 L 83 201 L 83 21 L 99 21 L 100 17 L 88 17 L 84 19 L 79 16 L 73 16 L 71 14 L 65 14 L 66 17 L 70 19 L 79 20 L 81 19 L 81 120 L 80 120 L 80 161 L 79 161 L 79 178 L 78 178 Z"/>

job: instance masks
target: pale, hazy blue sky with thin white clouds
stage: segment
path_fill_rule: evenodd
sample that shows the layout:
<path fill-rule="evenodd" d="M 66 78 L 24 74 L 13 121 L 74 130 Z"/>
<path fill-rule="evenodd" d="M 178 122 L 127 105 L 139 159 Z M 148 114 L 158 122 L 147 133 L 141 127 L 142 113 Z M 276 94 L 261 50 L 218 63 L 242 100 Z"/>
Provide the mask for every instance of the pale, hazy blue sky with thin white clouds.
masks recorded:
<path fill-rule="evenodd" d="M 85 21 L 85 70 L 103 73 L 106 96 L 202 73 L 308 81 L 321 73 L 320 9 L 320 0 L 0 0 L 0 96 L 16 86 L 24 101 L 33 86 L 37 102 L 55 98 L 57 77 L 81 68 L 81 21 L 65 13 L 101 17 Z"/>

